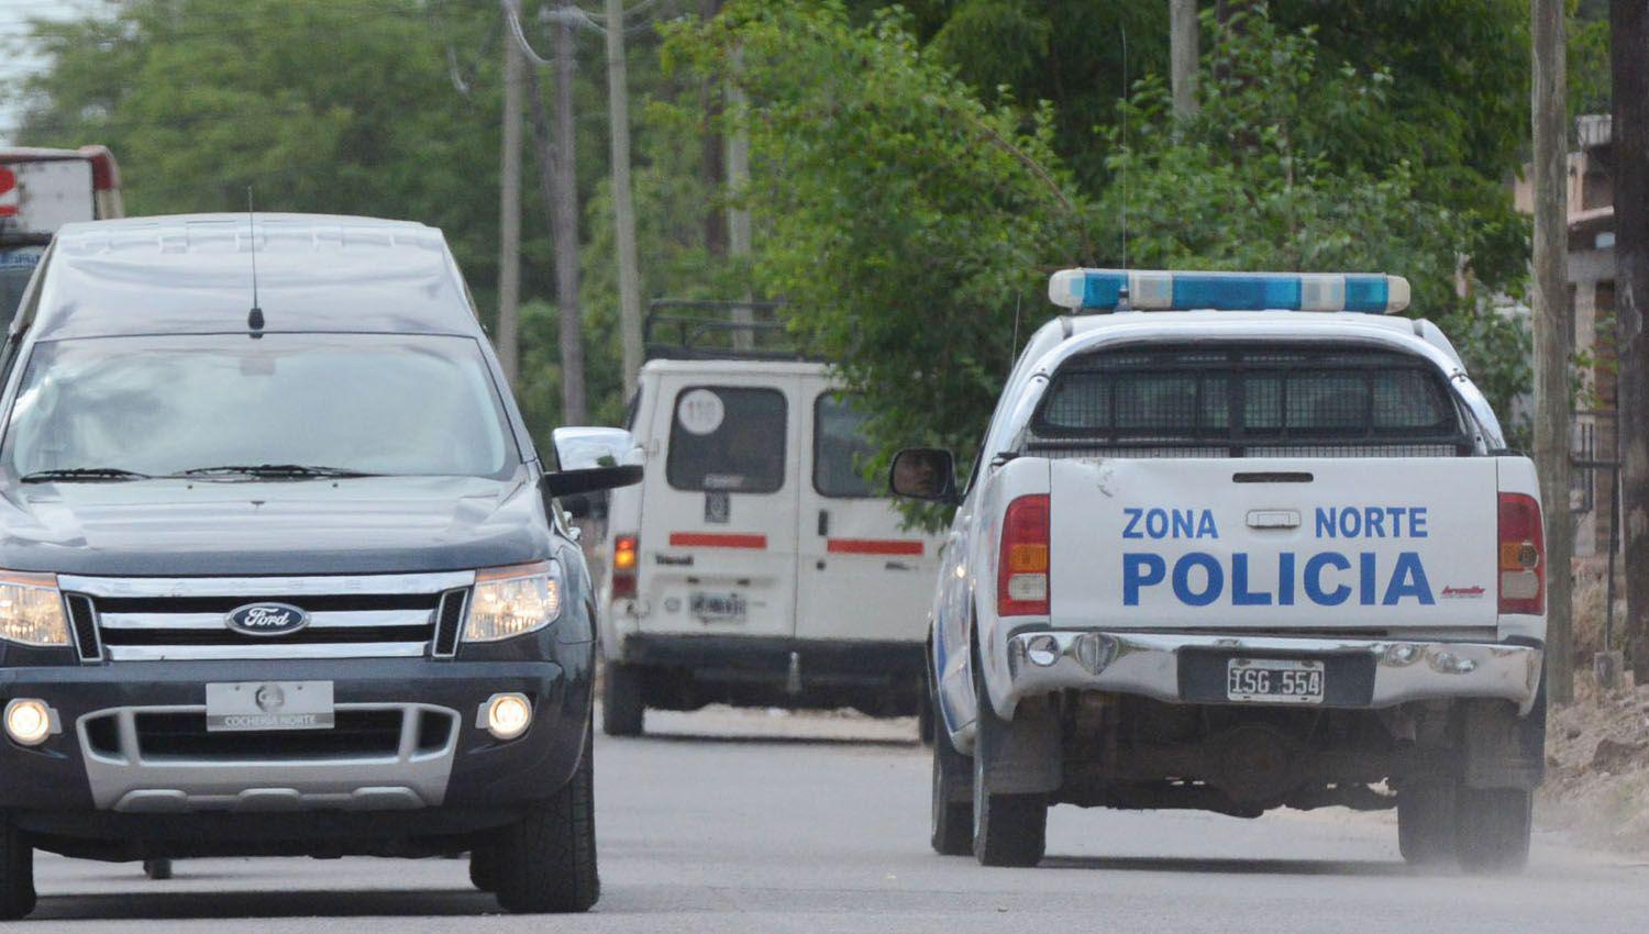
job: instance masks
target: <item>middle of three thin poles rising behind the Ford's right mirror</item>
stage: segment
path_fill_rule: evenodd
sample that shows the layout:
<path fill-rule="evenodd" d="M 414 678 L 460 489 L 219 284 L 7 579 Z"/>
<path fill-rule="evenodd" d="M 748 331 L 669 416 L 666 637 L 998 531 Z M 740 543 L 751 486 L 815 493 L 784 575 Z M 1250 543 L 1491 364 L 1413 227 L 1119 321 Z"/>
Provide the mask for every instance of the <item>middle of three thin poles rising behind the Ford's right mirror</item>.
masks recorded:
<path fill-rule="evenodd" d="M 556 10 L 556 135 L 551 137 L 544 114 L 544 94 L 538 74 L 528 82 L 533 112 L 533 142 L 538 150 L 538 180 L 549 209 L 549 229 L 556 241 L 556 311 L 561 315 L 561 422 L 579 425 L 584 405 L 584 328 L 579 323 L 579 188 L 572 145 L 572 72 L 574 16 L 572 0 L 561 0 Z"/>

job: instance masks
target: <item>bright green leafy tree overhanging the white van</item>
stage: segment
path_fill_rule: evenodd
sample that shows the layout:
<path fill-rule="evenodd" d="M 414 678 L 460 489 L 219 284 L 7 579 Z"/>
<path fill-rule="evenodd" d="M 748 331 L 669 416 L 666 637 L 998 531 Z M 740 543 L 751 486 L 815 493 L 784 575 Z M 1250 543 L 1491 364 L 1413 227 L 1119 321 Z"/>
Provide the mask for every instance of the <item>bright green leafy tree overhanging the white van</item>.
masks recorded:
<path fill-rule="evenodd" d="M 749 0 L 671 31 L 693 74 L 737 82 L 762 221 L 755 277 L 836 362 L 884 453 L 978 443 L 1049 264 L 1083 259 L 1085 203 L 1052 114 L 983 104 L 897 13 Z M 737 54 L 734 54 L 737 49 Z M 882 461 L 886 463 L 886 461 Z M 874 469 L 876 465 L 872 465 Z"/>

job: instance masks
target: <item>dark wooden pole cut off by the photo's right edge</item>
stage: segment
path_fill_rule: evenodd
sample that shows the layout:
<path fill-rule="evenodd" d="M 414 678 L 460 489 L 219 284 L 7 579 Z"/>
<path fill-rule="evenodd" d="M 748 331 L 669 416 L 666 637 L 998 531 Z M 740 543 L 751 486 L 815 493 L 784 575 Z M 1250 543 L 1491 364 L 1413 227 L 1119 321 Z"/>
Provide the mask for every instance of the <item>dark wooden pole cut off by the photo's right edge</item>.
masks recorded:
<path fill-rule="evenodd" d="M 1609 3 L 1609 35 L 1626 651 L 1637 684 L 1649 684 L 1649 10 L 1642 0 Z"/>

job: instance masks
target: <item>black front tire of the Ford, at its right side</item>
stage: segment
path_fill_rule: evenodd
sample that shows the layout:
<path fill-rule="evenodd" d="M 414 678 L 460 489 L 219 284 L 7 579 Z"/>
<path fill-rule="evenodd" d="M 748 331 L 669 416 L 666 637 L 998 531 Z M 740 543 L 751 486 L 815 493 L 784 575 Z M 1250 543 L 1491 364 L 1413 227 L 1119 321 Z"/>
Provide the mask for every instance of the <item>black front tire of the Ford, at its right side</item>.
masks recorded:
<path fill-rule="evenodd" d="M 554 797 L 495 840 L 491 880 L 498 904 L 513 913 L 589 911 L 602 894 L 595 866 L 595 746 L 584 733 L 584 758 Z M 473 857 L 472 857 L 473 860 Z M 483 860 L 483 866 L 488 860 Z M 472 862 L 473 868 L 473 862 Z M 483 876 L 485 878 L 485 876 Z"/>

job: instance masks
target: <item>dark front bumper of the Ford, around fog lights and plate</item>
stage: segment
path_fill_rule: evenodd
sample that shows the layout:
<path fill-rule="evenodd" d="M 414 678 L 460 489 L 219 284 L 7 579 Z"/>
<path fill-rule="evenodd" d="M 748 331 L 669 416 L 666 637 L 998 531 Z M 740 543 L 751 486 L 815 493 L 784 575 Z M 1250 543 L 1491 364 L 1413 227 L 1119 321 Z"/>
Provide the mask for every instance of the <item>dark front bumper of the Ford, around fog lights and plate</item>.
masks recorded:
<path fill-rule="evenodd" d="M 340 725 L 346 712 L 376 717 L 376 723 L 389 718 L 401 725 L 399 735 L 391 731 L 373 748 L 317 748 L 294 738 L 322 731 L 224 735 L 190 726 L 195 731 L 181 738 L 176 731 L 176 723 L 204 722 L 208 682 L 313 680 L 333 684 Z M 478 708 L 500 692 L 533 698 L 533 725 L 511 741 L 495 740 L 477 723 Z M 508 809 L 551 796 L 579 763 L 589 717 L 585 674 L 541 661 L 0 669 L 0 703 L 16 697 L 45 700 L 61 725 L 35 748 L 0 740 L 0 807 L 25 827 L 99 814 L 402 810 L 404 829 L 416 829 L 419 814 Z M 143 723 L 167 726 L 145 736 Z M 237 741 L 224 743 L 224 736 Z M 76 825 L 97 832 L 96 822 Z M 450 820 L 442 825 L 450 829 Z M 233 822 L 221 827 L 234 832 Z"/>

